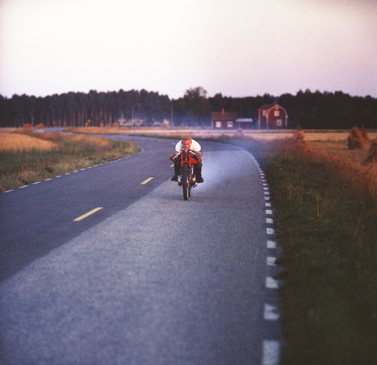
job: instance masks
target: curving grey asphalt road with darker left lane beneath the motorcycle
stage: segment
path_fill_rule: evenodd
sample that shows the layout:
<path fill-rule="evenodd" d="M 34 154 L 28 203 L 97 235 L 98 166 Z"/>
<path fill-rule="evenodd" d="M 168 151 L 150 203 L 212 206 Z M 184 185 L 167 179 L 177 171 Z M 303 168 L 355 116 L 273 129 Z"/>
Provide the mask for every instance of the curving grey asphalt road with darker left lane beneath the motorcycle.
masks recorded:
<path fill-rule="evenodd" d="M 0 363 L 276 364 L 257 162 L 201 142 L 205 182 L 184 201 L 176 141 L 134 140 L 143 152 L 0 194 Z"/>

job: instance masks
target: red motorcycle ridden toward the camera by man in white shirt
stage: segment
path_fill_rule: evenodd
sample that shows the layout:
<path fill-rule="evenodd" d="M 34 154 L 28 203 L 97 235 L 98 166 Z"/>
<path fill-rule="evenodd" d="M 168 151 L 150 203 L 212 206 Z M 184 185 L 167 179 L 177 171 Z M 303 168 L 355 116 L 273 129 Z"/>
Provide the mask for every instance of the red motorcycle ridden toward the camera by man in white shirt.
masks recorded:
<path fill-rule="evenodd" d="M 179 152 L 176 158 L 181 158 L 181 175 L 178 175 L 178 186 L 182 186 L 183 199 L 188 200 L 191 196 L 191 189 L 198 185 L 194 173 L 194 165 L 198 163 L 198 159 L 195 152 L 188 149 Z"/>

